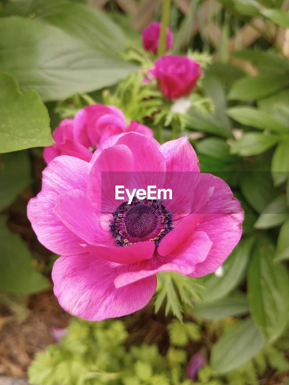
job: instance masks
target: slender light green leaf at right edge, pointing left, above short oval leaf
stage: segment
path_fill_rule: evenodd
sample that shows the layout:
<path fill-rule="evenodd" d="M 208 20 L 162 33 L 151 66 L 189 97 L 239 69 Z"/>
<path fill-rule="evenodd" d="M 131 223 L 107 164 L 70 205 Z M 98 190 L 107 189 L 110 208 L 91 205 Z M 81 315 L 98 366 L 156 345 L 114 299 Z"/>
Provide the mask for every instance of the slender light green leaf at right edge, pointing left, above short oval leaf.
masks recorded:
<path fill-rule="evenodd" d="M 277 134 L 289 132 L 289 124 L 285 126 L 271 115 L 254 107 L 232 107 L 227 110 L 227 114 L 245 126 L 251 126 L 261 130 L 269 129 Z"/>

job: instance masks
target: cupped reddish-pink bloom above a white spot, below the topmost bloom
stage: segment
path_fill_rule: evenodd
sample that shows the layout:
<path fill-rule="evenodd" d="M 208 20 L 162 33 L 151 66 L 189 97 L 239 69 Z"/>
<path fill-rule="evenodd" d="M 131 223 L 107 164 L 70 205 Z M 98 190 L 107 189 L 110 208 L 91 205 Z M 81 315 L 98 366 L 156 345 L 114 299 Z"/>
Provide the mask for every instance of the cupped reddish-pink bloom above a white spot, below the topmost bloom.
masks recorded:
<path fill-rule="evenodd" d="M 165 98 L 174 100 L 188 96 L 203 72 L 200 64 L 187 56 L 165 55 L 155 62 L 149 74 L 157 79 Z"/>

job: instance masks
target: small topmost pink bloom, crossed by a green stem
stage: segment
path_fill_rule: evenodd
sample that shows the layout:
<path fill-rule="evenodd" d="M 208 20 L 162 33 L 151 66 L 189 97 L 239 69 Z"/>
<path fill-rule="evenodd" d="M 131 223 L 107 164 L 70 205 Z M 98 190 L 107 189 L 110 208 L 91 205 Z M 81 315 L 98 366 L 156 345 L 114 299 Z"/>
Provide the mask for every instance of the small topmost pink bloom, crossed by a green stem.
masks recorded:
<path fill-rule="evenodd" d="M 142 30 L 142 42 L 147 51 L 157 52 L 159 47 L 160 40 L 160 28 L 161 24 L 159 22 L 150 23 L 147 28 Z M 173 42 L 173 33 L 170 27 L 167 28 L 167 40 L 165 44 L 166 49 L 172 47 Z"/>

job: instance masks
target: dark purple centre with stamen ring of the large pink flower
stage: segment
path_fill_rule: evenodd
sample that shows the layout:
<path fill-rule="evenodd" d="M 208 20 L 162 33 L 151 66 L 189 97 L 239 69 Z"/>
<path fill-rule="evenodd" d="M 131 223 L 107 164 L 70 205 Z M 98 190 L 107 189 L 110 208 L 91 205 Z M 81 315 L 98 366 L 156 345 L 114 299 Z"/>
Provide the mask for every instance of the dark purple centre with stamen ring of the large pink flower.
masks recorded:
<path fill-rule="evenodd" d="M 112 213 L 109 230 L 116 237 L 117 246 L 153 241 L 156 246 L 172 229 L 172 211 L 163 200 L 133 198 L 132 203 L 121 203 Z"/>

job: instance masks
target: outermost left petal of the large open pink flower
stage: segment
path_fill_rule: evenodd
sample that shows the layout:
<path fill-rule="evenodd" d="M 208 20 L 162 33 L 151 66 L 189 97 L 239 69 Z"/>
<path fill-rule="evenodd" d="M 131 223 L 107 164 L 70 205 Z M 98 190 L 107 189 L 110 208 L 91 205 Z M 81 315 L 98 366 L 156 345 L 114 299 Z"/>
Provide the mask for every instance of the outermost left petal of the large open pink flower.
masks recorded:
<path fill-rule="evenodd" d="M 86 191 L 91 165 L 81 159 L 59 156 L 43 171 L 42 191 L 28 203 L 27 214 L 39 241 L 56 254 L 83 253 L 83 241 L 55 215 L 61 192 Z"/>

